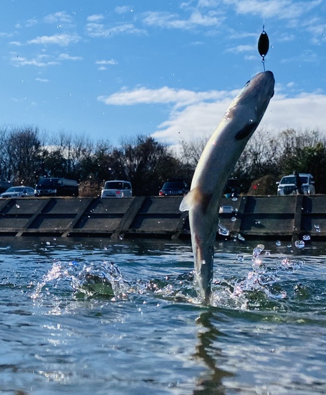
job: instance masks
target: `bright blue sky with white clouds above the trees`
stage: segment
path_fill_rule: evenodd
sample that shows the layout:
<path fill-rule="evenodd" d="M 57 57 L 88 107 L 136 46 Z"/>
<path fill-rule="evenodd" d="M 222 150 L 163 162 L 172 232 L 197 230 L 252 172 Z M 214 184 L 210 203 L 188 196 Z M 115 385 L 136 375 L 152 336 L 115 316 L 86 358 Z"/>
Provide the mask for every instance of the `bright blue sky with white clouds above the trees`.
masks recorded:
<path fill-rule="evenodd" d="M 263 63 L 275 95 L 260 128 L 326 133 L 322 0 L 1 0 L 0 128 L 113 145 L 210 136 Z"/>

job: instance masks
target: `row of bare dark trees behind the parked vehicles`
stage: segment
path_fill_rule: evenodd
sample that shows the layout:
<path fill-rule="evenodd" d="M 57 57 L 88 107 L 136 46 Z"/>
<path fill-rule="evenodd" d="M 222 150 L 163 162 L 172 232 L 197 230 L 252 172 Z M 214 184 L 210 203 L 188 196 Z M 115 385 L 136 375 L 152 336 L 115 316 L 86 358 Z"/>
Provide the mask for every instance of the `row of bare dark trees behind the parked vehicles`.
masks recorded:
<path fill-rule="evenodd" d="M 180 151 L 175 152 L 142 134 L 113 146 L 108 140 L 94 142 L 65 132 L 49 138 L 31 126 L 2 128 L 0 179 L 31 186 L 39 176 L 75 179 L 84 196 L 96 196 L 104 181 L 125 179 L 131 181 L 135 195 L 157 195 L 166 180 L 191 181 L 206 140 L 180 141 Z M 318 130 L 256 132 L 232 176 L 244 193 L 253 182 L 263 185 L 268 176 L 272 181 L 262 193 L 276 194 L 275 180 L 294 170 L 313 174 L 316 191 L 326 193 L 326 139 Z"/>

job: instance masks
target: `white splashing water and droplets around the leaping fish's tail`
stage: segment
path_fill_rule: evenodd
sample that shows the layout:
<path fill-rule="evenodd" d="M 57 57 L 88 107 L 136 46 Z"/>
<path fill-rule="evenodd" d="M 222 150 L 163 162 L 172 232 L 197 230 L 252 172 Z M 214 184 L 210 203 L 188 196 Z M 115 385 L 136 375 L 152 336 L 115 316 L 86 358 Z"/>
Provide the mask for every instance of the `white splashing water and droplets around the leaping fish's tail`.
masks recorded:
<path fill-rule="evenodd" d="M 304 246 L 302 243 L 296 245 L 298 248 Z M 265 295 L 270 300 L 284 299 L 287 297 L 285 290 L 275 290 L 274 285 L 280 279 L 280 273 L 296 270 L 302 263 L 284 258 L 277 267 L 273 269 L 266 267 L 261 259 L 261 253 L 265 250 L 263 244 L 259 244 L 252 250 L 252 270 L 245 278 L 229 278 L 213 283 L 211 304 L 213 306 L 227 306 L 240 309 L 250 309 L 250 301 L 257 294 Z M 270 252 L 266 251 L 265 256 Z M 237 254 L 238 263 L 244 263 L 243 254 Z M 76 261 L 63 263 L 56 261 L 42 280 L 36 284 L 32 298 L 41 298 L 48 287 L 57 287 L 60 281 L 69 283 L 70 289 L 75 294 L 85 296 L 105 296 L 112 301 L 126 300 L 131 294 L 153 294 L 159 298 L 172 299 L 174 301 L 186 301 L 188 303 L 201 303 L 197 297 L 194 285 L 193 271 L 179 276 L 166 276 L 144 281 L 141 278 L 127 280 L 124 278 L 118 265 L 110 261 L 100 263 L 85 263 L 81 265 Z"/>

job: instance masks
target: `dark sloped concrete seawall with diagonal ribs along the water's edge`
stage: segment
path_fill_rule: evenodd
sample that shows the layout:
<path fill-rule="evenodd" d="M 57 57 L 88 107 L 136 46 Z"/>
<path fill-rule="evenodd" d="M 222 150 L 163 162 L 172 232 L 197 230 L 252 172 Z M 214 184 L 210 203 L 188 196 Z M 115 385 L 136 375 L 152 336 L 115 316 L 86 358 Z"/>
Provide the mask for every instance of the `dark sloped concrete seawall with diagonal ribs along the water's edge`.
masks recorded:
<path fill-rule="evenodd" d="M 94 236 L 189 239 L 182 197 L 0 200 L 0 236 Z M 220 223 L 245 239 L 326 240 L 326 195 L 240 196 L 222 199 Z M 217 232 L 217 238 L 225 238 Z"/>

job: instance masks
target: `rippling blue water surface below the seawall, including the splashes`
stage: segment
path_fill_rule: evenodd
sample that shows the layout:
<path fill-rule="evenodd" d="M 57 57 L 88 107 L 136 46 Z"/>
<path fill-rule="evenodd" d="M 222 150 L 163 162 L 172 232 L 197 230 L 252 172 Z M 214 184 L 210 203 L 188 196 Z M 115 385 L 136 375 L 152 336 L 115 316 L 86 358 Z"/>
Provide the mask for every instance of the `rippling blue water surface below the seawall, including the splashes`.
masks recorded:
<path fill-rule="evenodd" d="M 326 246 L 0 239 L 0 393 L 326 394 Z M 112 262 L 112 263 L 111 263 Z"/>

